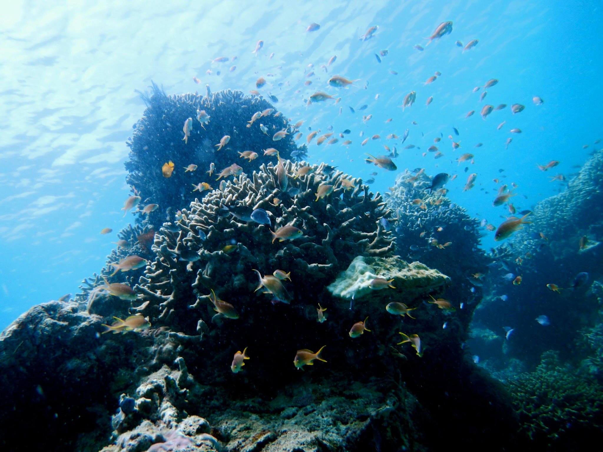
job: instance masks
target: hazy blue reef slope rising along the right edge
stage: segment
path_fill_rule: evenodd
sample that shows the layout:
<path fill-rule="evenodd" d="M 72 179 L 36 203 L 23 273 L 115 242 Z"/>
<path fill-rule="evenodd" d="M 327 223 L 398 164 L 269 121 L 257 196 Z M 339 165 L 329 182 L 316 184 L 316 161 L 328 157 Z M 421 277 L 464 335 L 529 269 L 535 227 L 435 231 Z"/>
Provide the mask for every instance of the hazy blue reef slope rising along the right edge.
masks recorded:
<path fill-rule="evenodd" d="M 564 192 L 536 204 L 528 217 L 532 224 L 495 250 L 488 293 L 474 321 L 499 334 L 504 327 L 514 329 L 505 341 L 508 357 L 535 366 L 553 349 L 562 360 L 573 360 L 578 331 L 598 321 L 598 296 L 590 287 L 603 277 L 603 248 L 581 249 L 581 237 L 590 243 L 603 237 L 602 172 L 603 151 L 595 151 Z M 581 272 L 589 273 L 586 283 L 572 288 Z M 513 285 L 508 275 L 522 275 L 522 283 Z M 549 289 L 550 283 L 561 287 L 560 293 Z M 538 325 L 540 315 L 551 327 Z"/>

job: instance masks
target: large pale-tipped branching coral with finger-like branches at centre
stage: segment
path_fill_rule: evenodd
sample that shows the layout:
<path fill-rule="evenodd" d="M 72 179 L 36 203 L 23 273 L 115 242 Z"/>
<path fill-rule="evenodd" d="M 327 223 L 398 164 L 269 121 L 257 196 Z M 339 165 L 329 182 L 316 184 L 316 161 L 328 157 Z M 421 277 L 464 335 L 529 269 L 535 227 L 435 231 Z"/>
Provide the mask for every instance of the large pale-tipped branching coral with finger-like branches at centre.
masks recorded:
<path fill-rule="evenodd" d="M 137 286 L 142 298 L 150 302 L 145 313 L 165 321 L 174 309 L 186 309 L 189 304 L 203 306 L 209 290 L 218 288 L 229 294 L 228 301 L 246 303 L 256 284 L 254 268 L 262 274 L 286 269 L 293 275 L 325 281 L 326 285 L 356 256 L 391 254 L 393 239 L 379 223 L 388 213 L 379 193 L 373 196 L 368 186 L 356 179 L 353 181 L 358 186 L 345 190 L 340 182 L 347 175 L 340 171 L 328 174 L 324 164 L 312 166 L 313 171 L 307 175 L 292 177 L 302 166 L 286 163 L 288 192 L 278 187 L 276 167 L 262 165 L 252 177 L 241 175 L 229 181 L 224 190 L 214 190 L 203 201 L 192 202 L 190 210 L 183 209 L 183 218 L 177 223 L 180 232 L 162 228 L 154 243 L 155 262 Z M 318 186 L 323 183 L 335 189 L 327 198 L 315 201 Z M 291 189 L 299 192 L 291 196 Z M 283 199 L 274 206 L 277 197 Z M 231 219 L 225 215 L 224 206 L 247 207 L 249 212 L 265 209 L 274 228 L 293 225 L 304 235 L 271 244 L 267 225 Z M 225 253 L 227 245 L 236 245 L 236 250 Z M 178 260 L 184 250 L 193 251 L 199 259 L 190 263 Z M 292 291 L 301 295 L 305 280 L 293 279 Z M 191 297 L 197 302 L 190 303 Z"/>

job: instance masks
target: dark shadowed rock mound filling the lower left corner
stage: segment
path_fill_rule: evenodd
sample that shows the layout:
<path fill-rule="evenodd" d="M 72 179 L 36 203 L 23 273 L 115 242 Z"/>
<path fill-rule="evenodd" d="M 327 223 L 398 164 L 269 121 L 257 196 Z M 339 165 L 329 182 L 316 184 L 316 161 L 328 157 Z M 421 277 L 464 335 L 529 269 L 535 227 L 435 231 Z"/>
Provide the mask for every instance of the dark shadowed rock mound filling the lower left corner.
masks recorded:
<path fill-rule="evenodd" d="M 10 395 L 0 403 L 5 450 L 92 451 L 106 444 L 113 394 L 138 378 L 135 363 L 147 360 L 152 341 L 141 334 L 101 340 L 103 319 L 80 309 L 43 303 L 0 334 L 0 381 Z M 78 435 L 87 448 L 76 447 Z"/>

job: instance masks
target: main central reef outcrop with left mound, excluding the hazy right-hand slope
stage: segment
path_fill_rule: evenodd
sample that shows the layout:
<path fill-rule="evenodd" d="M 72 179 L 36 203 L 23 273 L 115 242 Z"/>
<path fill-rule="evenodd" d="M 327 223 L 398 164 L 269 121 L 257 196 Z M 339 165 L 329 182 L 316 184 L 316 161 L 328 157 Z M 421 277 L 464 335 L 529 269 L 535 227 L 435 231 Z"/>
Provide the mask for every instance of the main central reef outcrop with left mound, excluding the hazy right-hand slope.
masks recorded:
<path fill-rule="evenodd" d="M 34 307 L 2 333 L 0 378 L 14 397 L 3 402 L 10 430 L 0 444 L 14 450 L 33 419 L 32 449 L 47 451 L 420 451 L 440 450 L 450 435 L 464 448 L 513 445 L 504 389 L 463 350 L 480 297 L 467 277 L 487 263 L 475 220 L 426 197 L 425 176 L 403 175 L 385 202 L 329 165 L 291 162 L 303 149 L 290 135 L 274 141 L 259 124 L 245 127 L 270 108 L 260 98 L 168 97 L 155 86 L 146 101 L 128 183 L 160 209 L 121 231 L 127 248 L 83 281 L 75 302 Z M 200 115 L 203 128 L 181 132 L 201 108 L 209 122 Z M 270 113 L 257 121 L 293 131 Z M 253 165 L 233 160 L 244 146 L 274 143 L 280 152 Z M 162 168 L 170 160 L 199 174 Z M 219 172 L 235 161 L 242 168 L 203 198 L 187 191 L 203 166 Z M 413 210 L 415 192 L 429 208 Z M 396 248 L 420 259 L 399 259 Z M 128 256 L 147 262 L 115 272 Z M 402 301 L 412 317 L 385 308 Z M 133 313 L 144 327 L 103 334 L 113 316 Z M 349 334 L 359 323 L 362 334 Z M 326 362 L 298 368 L 295 351 L 306 347 L 324 350 Z M 249 360 L 235 372 L 240 350 Z M 492 436 L 503 439 L 493 447 Z"/>

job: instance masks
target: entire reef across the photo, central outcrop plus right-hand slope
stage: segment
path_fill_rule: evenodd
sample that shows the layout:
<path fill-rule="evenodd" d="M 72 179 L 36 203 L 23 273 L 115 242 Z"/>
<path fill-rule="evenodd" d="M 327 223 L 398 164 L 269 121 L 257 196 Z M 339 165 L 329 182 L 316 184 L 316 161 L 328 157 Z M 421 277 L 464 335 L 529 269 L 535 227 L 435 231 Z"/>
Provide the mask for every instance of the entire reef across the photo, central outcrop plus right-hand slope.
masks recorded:
<path fill-rule="evenodd" d="M 382 195 L 306 163 L 299 126 L 262 96 L 144 99 L 124 210 L 151 207 L 80 293 L 2 333 L 5 450 L 579 450 L 569 430 L 600 435 L 603 285 L 570 309 L 529 283 L 516 298 L 531 303 L 505 303 L 481 277 L 519 255 L 601 271 L 598 243 L 574 246 L 603 233 L 585 215 L 602 218 L 601 152 L 534 209 L 550 244 L 526 227 L 486 253 L 428 175 Z M 545 341 L 502 330 L 552 303 L 565 320 Z"/>

